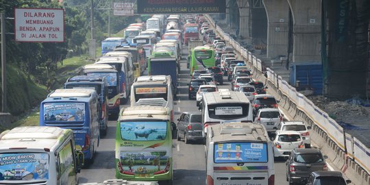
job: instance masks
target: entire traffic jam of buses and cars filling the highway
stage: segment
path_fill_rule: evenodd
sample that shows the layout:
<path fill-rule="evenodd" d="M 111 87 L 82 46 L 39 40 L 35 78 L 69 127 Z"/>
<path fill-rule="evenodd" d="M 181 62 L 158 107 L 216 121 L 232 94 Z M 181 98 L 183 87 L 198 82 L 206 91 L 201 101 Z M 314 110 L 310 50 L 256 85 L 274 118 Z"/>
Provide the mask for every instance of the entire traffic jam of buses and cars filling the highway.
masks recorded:
<path fill-rule="evenodd" d="M 1 133 L 1 184 L 350 183 L 212 27 L 157 14 L 103 40 L 42 127 Z"/>

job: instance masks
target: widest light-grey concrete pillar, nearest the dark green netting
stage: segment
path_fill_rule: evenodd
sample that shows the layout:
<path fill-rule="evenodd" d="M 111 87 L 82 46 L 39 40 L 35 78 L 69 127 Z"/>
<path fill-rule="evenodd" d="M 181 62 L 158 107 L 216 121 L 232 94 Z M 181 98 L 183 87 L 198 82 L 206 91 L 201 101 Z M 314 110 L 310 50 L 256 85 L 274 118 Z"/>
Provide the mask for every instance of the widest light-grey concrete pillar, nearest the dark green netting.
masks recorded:
<path fill-rule="evenodd" d="M 293 62 L 321 61 L 320 0 L 287 0 L 293 15 Z"/>

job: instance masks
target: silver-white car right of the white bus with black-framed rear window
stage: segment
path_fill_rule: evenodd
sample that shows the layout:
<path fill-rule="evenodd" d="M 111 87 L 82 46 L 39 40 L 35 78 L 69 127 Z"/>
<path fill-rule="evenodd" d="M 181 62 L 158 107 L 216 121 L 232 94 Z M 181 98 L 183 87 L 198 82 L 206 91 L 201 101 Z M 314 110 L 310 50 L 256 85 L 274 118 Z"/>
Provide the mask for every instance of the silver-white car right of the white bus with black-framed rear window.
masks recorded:
<path fill-rule="evenodd" d="M 267 132 L 276 132 L 283 121 L 283 115 L 277 108 L 261 108 L 254 121 L 264 125 Z"/>

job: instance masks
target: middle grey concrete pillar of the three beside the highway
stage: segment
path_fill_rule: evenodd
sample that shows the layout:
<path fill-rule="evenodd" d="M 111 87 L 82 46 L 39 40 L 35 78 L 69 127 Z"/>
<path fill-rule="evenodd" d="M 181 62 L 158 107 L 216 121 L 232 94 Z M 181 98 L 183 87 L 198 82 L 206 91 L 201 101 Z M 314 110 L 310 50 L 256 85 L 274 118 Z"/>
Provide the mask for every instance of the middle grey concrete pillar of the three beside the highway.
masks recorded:
<path fill-rule="evenodd" d="M 289 5 L 286 0 L 263 0 L 267 14 L 267 58 L 288 55 Z"/>

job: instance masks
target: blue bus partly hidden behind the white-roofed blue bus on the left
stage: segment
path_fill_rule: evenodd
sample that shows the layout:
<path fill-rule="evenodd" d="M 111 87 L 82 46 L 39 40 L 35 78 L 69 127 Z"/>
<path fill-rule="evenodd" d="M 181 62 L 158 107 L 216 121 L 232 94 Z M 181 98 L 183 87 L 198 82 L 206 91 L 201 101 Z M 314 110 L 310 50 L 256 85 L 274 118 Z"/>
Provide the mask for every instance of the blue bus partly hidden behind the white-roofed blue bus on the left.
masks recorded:
<path fill-rule="evenodd" d="M 90 88 L 97 91 L 99 96 L 99 130 L 100 136 L 106 136 L 108 129 L 108 82 L 106 77 L 74 76 L 64 83 L 64 88 Z"/>

